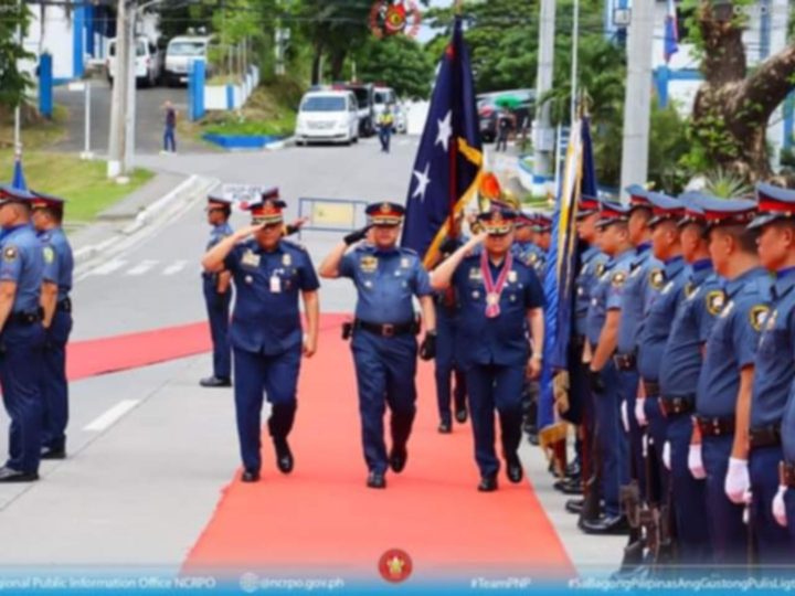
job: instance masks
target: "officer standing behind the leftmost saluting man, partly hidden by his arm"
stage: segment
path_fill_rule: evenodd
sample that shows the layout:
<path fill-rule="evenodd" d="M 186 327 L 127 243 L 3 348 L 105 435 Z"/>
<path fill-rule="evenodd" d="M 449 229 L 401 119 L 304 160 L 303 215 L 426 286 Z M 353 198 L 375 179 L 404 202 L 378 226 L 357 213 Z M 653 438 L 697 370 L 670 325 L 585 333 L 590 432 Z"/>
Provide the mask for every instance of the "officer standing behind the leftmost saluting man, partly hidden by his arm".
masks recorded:
<path fill-rule="evenodd" d="M 265 196 L 264 196 L 265 198 Z M 278 194 L 267 195 L 277 200 Z M 232 202 L 221 194 L 210 194 L 205 207 L 208 223 L 212 226 L 206 251 L 232 235 L 229 223 Z M 202 379 L 202 387 L 229 387 L 232 385 L 232 347 L 229 340 L 230 305 L 232 304 L 232 274 L 225 269 L 202 273 L 202 289 L 210 320 L 213 343 L 213 374 Z"/>

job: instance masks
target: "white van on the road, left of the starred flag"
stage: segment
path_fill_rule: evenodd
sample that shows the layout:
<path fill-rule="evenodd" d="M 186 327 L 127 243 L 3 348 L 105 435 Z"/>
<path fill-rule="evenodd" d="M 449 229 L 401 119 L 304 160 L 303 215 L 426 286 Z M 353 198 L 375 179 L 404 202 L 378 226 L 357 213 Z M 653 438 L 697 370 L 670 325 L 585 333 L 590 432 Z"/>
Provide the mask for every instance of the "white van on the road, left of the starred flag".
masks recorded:
<path fill-rule="evenodd" d="M 301 98 L 296 119 L 297 145 L 359 140 L 359 104 L 349 91 L 314 91 Z"/>

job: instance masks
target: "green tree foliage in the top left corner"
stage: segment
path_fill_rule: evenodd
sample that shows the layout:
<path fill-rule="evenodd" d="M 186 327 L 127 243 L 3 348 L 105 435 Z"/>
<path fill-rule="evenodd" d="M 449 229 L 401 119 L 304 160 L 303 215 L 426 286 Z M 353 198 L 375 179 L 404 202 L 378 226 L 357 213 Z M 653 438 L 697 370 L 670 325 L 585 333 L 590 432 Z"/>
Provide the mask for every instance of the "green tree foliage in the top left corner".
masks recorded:
<path fill-rule="evenodd" d="M 33 83 L 18 66 L 20 61 L 33 57 L 20 44 L 17 31 L 28 29 L 30 12 L 17 0 L 0 0 L 0 107 L 13 109 L 24 103 L 25 91 Z"/>

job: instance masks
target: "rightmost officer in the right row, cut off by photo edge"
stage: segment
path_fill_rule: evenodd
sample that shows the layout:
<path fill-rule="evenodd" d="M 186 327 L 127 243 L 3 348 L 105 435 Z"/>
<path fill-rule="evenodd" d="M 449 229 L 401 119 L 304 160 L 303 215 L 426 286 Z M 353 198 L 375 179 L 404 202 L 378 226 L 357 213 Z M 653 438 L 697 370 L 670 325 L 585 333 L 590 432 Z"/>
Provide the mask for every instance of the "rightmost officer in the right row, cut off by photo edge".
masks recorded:
<path fill-rule="evenodd" d="M 776 278 L 754 361 L 751 449 L 748 458 L 732 450 L 725 491 L 735 503 L 750 492 L 759 563 L 792 564 L 795 543 L 772 505 L 781 480 L 782 422 L 795 379 L 795 191 L 759 184 L 756 194 L 759 215 L 750 227 L 760 231 L 760 262 Z"/>

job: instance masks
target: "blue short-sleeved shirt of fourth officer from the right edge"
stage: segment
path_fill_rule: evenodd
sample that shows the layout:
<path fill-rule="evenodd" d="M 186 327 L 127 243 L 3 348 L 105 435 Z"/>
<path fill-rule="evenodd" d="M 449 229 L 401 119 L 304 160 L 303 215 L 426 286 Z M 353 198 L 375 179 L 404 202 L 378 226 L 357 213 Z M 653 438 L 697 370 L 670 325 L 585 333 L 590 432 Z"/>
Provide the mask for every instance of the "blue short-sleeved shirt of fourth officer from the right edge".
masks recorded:
<path fill-rule="evenodd" d="M 649 308 L 638 342 L 638 372 L 646 381 L 659 379 L 662 351 L 688 275 L 685 259 L 680 256 L 665 265 L 666 285 Z"/>

